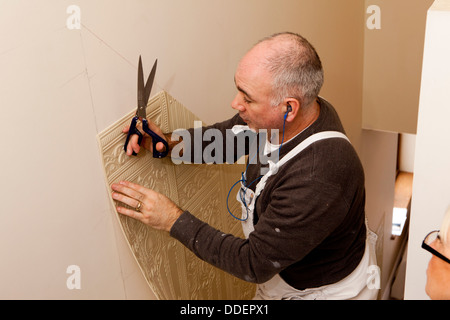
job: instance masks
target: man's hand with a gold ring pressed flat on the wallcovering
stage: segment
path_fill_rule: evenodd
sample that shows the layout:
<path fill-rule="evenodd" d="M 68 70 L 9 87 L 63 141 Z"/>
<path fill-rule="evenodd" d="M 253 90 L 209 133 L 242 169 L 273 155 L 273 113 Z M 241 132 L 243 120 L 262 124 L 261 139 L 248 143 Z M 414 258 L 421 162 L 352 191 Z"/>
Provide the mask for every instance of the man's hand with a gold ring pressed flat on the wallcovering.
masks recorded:
<path fill-rule="evenodd" d="M 135 183 L 121 181 L 111 186 L 113 199 L 135 208 L 118 206 L 117 212 L 132 217 L 158 230 L 170 231 L 175 221 L 183 213 L 166 196 Z"/>

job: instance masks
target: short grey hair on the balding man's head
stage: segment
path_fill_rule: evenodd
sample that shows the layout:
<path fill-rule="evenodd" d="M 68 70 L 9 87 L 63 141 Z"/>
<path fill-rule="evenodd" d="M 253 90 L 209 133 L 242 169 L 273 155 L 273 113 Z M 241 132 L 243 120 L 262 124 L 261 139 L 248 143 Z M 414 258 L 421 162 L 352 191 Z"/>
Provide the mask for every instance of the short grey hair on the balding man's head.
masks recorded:
<path fill-rule="evenodd" d="M 275 40 L 284 41 L 274 42 L 266 58 L 266 67 L 273 77 L 272 106 L 286 98 L 295 98 L 303 107 L 309 106 L 318 97 L 324 81 L 319 55 L 305 38 L 292 32 L 273 34 L 257 45 Z"/>

